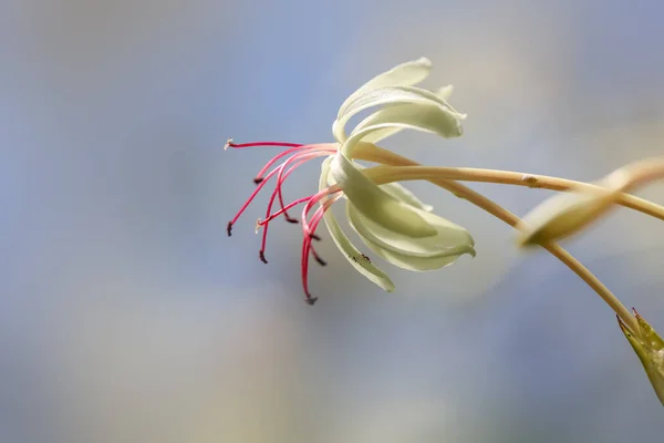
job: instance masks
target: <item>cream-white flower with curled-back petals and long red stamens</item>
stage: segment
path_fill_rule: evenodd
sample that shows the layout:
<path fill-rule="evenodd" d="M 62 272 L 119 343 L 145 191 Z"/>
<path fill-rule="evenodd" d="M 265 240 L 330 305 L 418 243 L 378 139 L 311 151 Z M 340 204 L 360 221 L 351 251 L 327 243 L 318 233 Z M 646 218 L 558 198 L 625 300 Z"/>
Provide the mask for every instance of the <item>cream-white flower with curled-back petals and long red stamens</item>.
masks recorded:
<path fill-rule="evenodd" d="M 238 214 L 228 223 L 228 235 L 240 215 L 256 195 L 274 178 L 276 185 L 268 203 L 266 216 L 257 223 L 257 231 L 262 228 L 262 243 L 259 257 L 267 262 L 264 250 L 268 225 L 283 216 L 290 223 L 298 220 L 289 210 L 304 204 L 302 209 L 302 256 L 301 272 L 305 299 L 309 303 L 317 298 L 309 292 L 308 269 L 312 256 L 325 265 L 314 248 L 315 234 L 321 220 L 338 248 L 349 262 L 362 275 L 386 291 L 394 290 L 390 277 L 371 259 L 362 254 L 343 233 L 330 207 L 340 198 L 346 199 L 346 216 L 351 227 L 366 246 L 391 264 L 416 271 L 438 269 L 450 265 L 464 254 L 475 255 L 474 240 L 463 227 L 432 214 L 432 207 L 422 203 L 415 195 L 397 183 L 376 185 L 367 178 L 354 158 L 373 144 L 404 128 L 429 132 L 443 137 L 456 137 L 463 133 L 460 122 L 464 114 L 455 111 L 446 101 L 452 86 L 434 93 L 414 84 L 424 80 L 432 64 L 427 59 L 403 63 L 380 74 L 355 91 L 341 105 L 332 132 L 335 143 L 292 144 L 258 142 L 235 144 L 231 140 L 226 148 L 253 146 L 280 146 L 287 148 L 270 159 L 257 174 L 257 188 L 242 205 Z M 345 126 L 357 113 L 377 107 L 349 136 Z M 282 185 L 290 174 L 311 159 L 326 157 L 322 163 L 319 192 L 289 204 L 284 204 Z M 378 155 L 380 161 L 380 155 Z M 380 172 L 374 179 L 380 178 Z M 391 178 L 397 182 L 398 174 Z M 274 202 L 280 209 L 272 212 Z M 318 208 L 313 208 L 318 205 Z"/>

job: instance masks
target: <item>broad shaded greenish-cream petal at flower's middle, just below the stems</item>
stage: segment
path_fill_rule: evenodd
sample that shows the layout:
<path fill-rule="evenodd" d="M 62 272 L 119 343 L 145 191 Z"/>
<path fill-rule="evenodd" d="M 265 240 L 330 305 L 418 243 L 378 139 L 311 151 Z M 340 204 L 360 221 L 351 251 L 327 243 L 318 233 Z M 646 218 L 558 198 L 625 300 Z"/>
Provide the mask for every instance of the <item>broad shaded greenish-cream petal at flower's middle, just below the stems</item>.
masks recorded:
<path fill-rule="evenodd" d="M 381 189 L 341 152 L 334 156 L 330 174 L 341 186 L 349 200 L 353 202 L 355 207 L 367 218 L 408 237 L 436 235 L 436 229 L 418 215 L 414 207 Z"/>

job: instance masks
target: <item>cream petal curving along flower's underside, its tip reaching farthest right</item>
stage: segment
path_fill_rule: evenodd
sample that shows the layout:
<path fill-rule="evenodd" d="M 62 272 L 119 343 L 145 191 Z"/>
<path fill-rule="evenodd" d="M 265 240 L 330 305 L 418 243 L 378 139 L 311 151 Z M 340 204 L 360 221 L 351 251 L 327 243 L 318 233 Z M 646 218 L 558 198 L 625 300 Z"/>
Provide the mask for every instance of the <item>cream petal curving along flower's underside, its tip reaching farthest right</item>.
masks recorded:
<path fill-rule="evenodd" d="M 475 241 L 465 228 L 435 214 L 425 213 L 421 209 L 416 210 L 430 226 L 435 227 L 435 236 L 409 238 L 395 234 L 365 217 L 352 203 L 346 204 L 346 215 L 353 229 L 363 239 L 371 241 L 381 249 L 418 258 L 457 257 L 463 254 L 475 255 Z"/>

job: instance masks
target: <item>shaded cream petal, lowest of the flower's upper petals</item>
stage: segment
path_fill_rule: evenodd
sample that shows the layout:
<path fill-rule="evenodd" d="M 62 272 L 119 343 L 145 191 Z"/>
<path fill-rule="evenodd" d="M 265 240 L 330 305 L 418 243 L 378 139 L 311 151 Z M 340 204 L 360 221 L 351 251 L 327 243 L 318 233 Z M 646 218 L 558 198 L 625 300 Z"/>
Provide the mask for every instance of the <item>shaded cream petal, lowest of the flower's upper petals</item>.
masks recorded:
<path fill-rule="evenodd" d="M 374 141 L 391 135 L 394 130 L 429 132 L 443 137 L 458 137 L 464 131 L 463 115 L 432 104 L 400 104 L 376 111 L 364 119 L 341 146 L 341 151 L 352 157 L 353 147 L 359 142 Z"/>

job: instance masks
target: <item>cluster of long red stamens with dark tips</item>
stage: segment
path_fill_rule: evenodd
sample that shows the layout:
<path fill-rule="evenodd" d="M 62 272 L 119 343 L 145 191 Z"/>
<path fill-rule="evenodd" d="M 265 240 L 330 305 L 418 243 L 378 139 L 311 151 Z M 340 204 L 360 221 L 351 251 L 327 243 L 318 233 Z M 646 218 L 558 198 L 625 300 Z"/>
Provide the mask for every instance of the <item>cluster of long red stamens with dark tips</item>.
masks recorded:
<path fill-rule="evenodd" d="M 242 143 L 236 144 L 232 140 L 229 140 L 226 143 L 225 150 L 234 148 L 234 150 L 242 150 L 248 147 L 268 147 L 268 146 L 277 146 L 284 147 L 286 150 L 281 153 L 277 154 L 272 157 L 264 166 L 258 172 L 256 177 L 253 178 L 253 183 L 257 185 L 253 193 L 249 196 L 249 198 L 242 204 L 240 210 L 236 214 L 236 216 L 228 222 L 228 226 L 226 228 L 228 236 L 230 237 L 232 226 L 237 223 L 238 218 L 245 213 L 247 207 L 251 204 L 251 202 L 256 198 L 256 196 L 260 193 L 260 190 L 272 179 L 274 178 L 274 188 L 268 200 L 268 206 L 266 210 L 266 216 L 263 219 L 258 219 L 256 223 L 256 231 L 262 228 L 262 239 L 261 246 L 259 250 L 259 258 L 262 262 L 267 264 L 268 260 L 266 258 L 266 245 L 268 239 L 268 226 L 270 222 L 283 215 L 287 222 L 297 224 L 298 219 L 291 217 L 288 214 L 289 209 L 292 209 L 294 206 L 300 204 L 305 204 L 302 209 L 302 287 L 304 289 L 304 295 L 307 297 L 307 302 L 313 305 L 317 298 L 311 297 L 309 292 L 309 284 L 308 284 L 308 275 L 309 275 L 309 257 L 313 256 L 313 258 L 321 265 L 326 265 L 325 261 L 320 257 L 320 255 L 315 251 L 313 247 L 312 240 L 320 240 L 320 237 L 315 234 L 318 225 L 325 212 L 332 206 L 334 202 L 336 202 L 341 195 L 341 189 L 338 186 L 331 186 L 321 192 L 309 195 L 305 197 L 298 198 L 292 200 L 289 204 L 284 203 L 282 186 L 286 179 L 295 171 L 298 167 L 304 165 L 311 159 L 318 157 L 324 157 L 334 155 L 336 153 L 336 144 L 328 143 L 328 144 L 295 144 L 295 143 L 281 143 L 281 142 L 255 142 L 255 143 Z M 328 198 L 332 196 L 331 198 Z M 272 213 L 272 206 L 274 200 L 279 200 L 280 209 Z M 313 215 L 308 219 L 309 213 L 318 203 L 321 203 L 321 206 L 313 213 Z"/>

